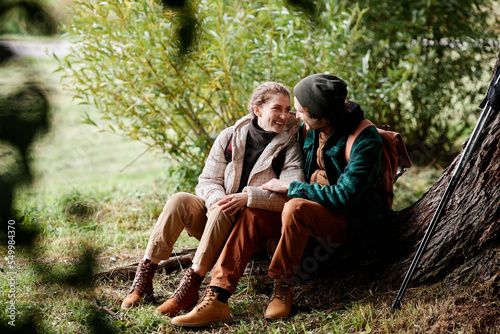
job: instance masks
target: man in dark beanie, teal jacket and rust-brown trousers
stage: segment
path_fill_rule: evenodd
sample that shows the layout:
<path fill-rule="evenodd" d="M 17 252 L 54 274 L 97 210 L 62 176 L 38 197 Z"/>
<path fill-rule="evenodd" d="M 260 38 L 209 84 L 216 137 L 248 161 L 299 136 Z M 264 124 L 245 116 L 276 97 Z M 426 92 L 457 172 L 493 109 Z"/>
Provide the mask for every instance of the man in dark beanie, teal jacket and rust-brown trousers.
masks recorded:
<path fill-rule="evenodd" d="M 236 222 L 200 303 L 172 324 L 203 327 L 230 319 L 227 300 L 243 275 L 252 250 L 260 240 L 279 239 L 269 265 L 274 292 L 264 317 L 282 319 L 292 308 L 292 282 L 309 236 L 326 245 L 317 257 L 353 236 L 370 233 L 384 219 L 385 193 L 379 186 L 382 139 L 374 127 L 357 136 L 350 158 L 346 142 L 364 119 L 361 108 L 346 99 L 347 85 L 336 76 L 314 74 L 294 87 L 297 118 L 307 131 L 302 138 L 302 180 L 273 179 L 262 189 L 287 194 L 291 199 L 280 215 L 245 208 Z M 301 132 L 302 133 L 302 132 Z"/>

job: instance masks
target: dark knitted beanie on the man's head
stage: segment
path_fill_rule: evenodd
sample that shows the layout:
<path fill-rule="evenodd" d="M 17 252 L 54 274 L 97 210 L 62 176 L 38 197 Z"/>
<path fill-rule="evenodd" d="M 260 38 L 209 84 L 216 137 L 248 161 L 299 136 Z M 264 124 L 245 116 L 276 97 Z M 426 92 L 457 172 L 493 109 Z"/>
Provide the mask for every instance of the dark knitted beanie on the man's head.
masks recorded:
<path fill-rule="evenodd" d="M 347 84 L 334 75 L 312 74 L 295 85 L 293 95 L 312 117 L 330 119 L 336 111 L 343 111 Z"/>

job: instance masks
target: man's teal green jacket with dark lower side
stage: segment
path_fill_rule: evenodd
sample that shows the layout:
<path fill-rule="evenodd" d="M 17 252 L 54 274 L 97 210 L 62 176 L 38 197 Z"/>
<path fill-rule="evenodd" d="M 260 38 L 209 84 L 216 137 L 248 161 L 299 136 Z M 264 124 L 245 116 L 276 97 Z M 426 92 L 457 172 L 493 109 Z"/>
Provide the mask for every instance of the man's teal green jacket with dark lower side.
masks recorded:
<path fill-rule="evenodd" d="M 319 130 L 311 130 L 303 139 L 305 182 L 292 181 L 288 196 L 305 198 L 345 215 L 355 235 L 369 234 L 378 229 L 389 211 L 383 201 L 380 186 L 382 139 L 375 127 L 368 127 L 356 138 L 345 159 L 349 133 L 334 132 L 324 146 L 325 170 L 330 185 L 310 184 L 318 168 Z"/>

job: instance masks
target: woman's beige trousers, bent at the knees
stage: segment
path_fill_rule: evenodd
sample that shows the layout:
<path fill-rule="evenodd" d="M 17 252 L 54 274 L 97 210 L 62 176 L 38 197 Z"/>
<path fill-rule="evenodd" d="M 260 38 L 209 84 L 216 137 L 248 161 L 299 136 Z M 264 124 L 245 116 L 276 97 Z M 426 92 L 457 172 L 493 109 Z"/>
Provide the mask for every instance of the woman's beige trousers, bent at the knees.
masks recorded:
<path fill-rule="evenodd" d="M 145 259 L 158 263 L 170 257 L 182 230 L 200 240 L 193 258 L 193 269 L 201 275 L 214 265 L 233 224 L 216 207 L 208 213 L 203 199 L 189 193 L 176 193 L 165 204 L 151 231 Z"/>

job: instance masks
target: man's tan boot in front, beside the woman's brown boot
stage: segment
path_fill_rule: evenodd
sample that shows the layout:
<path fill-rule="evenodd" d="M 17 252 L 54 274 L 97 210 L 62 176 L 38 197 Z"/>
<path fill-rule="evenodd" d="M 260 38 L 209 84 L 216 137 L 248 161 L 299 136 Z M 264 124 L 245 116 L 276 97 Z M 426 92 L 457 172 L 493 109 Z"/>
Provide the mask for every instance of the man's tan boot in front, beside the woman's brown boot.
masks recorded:
<path fill-rule="evenodd" d="M 202 300 L 188 314 L 173 318 L 170 322 L 181 327 L 207 327 L 231 320 L 229 305 L 217 300 L 217 293 L 207 288 Z"/>

